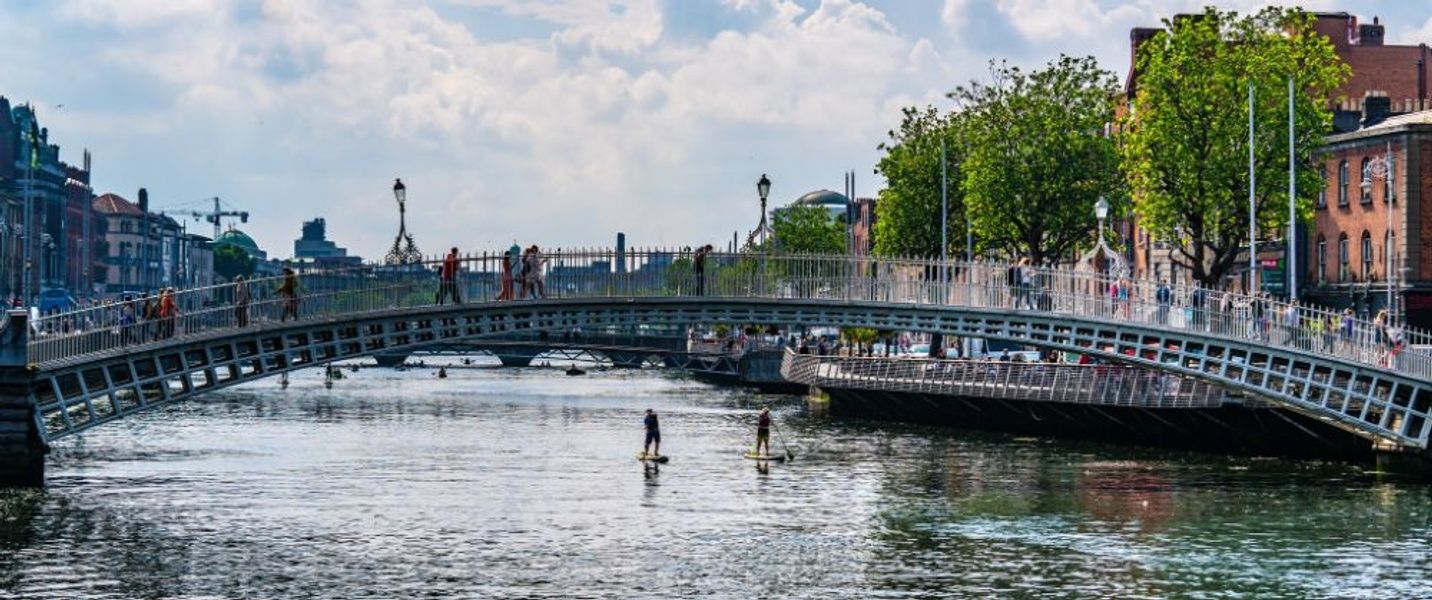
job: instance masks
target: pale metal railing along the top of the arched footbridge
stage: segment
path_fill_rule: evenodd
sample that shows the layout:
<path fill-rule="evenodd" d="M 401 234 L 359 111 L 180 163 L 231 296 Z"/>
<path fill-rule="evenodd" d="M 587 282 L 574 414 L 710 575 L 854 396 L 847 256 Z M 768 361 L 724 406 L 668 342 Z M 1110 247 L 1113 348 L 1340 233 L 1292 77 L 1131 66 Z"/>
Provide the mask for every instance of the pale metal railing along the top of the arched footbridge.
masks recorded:
<path fill-rule="evenodd" d="M 524 269 L 524 263 L 530 266 Z M 162 302 L 150 296 L 46 315 L 34 321 L 29 359 L 47 362 L 241 326 L 271 326 L 292 312 L 311 321 L 431 306 L 440 299 L 451 302 L 455 291 L 465 302 L 521 302 L 536 295 L 710 296 L 1002 308 L 1196 331 L 1432 377 L 1432 335 L 1426 332 L 1193 286 L 1170 286 L 1167 301 L 1161 301 L 1154 282 L 1093 271 L 1037 268 L 1014 278 L 1011 265 L 1002 262 L 750 253 L 712 253 L 699 265 L 690 252 L 652 249 L 558 251 L 541 261 L 513 263 L 494 252 L 461 258 L 455 282 L 440 298 L 440 265 L 432 259 L 405 266 L 299 271 L 296 298 L 279 295 L 282 275 L 255 278 L 246 284 L 252 296 L 246 308 L 235 302 L 236 286 L 222 284 L 173 291 L 175 311 L 168 314 L 159 314 Z M 1400 338 L 1402 345 L 1390 344 L 1393 338 Z"/>

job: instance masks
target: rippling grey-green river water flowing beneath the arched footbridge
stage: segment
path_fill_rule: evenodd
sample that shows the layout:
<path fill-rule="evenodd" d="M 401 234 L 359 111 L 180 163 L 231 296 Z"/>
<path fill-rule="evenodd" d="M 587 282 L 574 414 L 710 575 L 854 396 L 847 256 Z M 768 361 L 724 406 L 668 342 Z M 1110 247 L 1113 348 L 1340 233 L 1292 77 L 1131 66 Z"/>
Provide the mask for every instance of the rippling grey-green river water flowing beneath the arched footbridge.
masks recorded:
<path fill-rule="evenodd" d="M 796 461 L 742 460 L 762 402 Z M 1429 490 L 653 371 L 306 371 L 56 444 L 47 490 L 0 493 L 0 597 L 1409 599 Z"/>

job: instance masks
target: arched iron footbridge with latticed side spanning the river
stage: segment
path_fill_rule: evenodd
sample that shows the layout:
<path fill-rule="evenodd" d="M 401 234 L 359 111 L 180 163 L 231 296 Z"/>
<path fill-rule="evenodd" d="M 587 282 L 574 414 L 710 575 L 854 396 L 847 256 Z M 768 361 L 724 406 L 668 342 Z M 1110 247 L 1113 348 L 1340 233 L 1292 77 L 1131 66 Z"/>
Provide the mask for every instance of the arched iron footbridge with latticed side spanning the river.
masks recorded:
<path fill-rule="evenodd" d="M 299 274 L 301 295 L 276 279 L 173 294 L 179 314 L 143 319 L 139 302 L 27 322 L 0 335 L 0 478 L 43 481 L 56 440 L 140 410 L 279 372 L 411 352 L 518 332 L 684 329 L 789 324 L 938 332 L 1070 351 L 1203 381 L 1320 420 L 1380 447 L 1428 453 L 1432 337 L 1408 331 L 1399 349 L 1379 328 L 1350 322 L 1315 334 L 1329 314 L 1174 286 L 1161 304 L 1148 282 L 1111 298 L 1104 274 L 1035 269 L 1010 285 L 1008 265 L 802 255 L 712 255 L 697 268 L 674 251 L 558 252 L 543 298 L 501 275 L 501 253 L 464 258 L 465 304 L 438 304 L 435 263 Z M 1285 315 L 1292 315 L 1285 318 Z M 242 325 L 242 326 L 241 326 Z"/>

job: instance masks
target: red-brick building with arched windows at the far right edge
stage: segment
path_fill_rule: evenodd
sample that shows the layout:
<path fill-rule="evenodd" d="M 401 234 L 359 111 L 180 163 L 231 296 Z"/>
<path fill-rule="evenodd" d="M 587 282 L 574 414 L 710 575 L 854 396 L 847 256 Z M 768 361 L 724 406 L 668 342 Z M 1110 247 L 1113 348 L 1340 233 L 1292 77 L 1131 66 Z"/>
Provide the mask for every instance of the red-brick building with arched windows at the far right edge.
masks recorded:
<path fill-rule="evenodd" d="M 1325 176 L 1299 272 L 1303 296 L 1432 328 L 1432 110 L 1327 136 Z M 1388 165 L 1388 166 L 1383 166 Z M 1390 302 L 1389 302 L 1390 291 Z"/>

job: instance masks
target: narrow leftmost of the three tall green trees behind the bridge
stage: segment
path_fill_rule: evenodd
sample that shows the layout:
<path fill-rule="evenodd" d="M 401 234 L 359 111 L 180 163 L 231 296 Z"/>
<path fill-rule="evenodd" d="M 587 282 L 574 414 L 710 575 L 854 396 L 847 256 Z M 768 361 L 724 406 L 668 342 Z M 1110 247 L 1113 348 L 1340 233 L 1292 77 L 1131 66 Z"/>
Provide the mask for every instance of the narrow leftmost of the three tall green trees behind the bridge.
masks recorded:
<path fill-rule="evenodd" d="M 898 130 L 881 143 L 885 152 L 875 172 L 885 176 L 875 221 L 875 253 L 881 256 L 939 256 L 941 142 L 948 185 L 947 243 L 964 239 L 965 209 L 959 193 L 959 116 L 932 106 L 906 107 Z M 959 253 L 955 253 L 958 256 Z"/>

